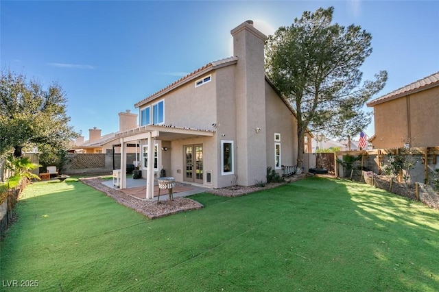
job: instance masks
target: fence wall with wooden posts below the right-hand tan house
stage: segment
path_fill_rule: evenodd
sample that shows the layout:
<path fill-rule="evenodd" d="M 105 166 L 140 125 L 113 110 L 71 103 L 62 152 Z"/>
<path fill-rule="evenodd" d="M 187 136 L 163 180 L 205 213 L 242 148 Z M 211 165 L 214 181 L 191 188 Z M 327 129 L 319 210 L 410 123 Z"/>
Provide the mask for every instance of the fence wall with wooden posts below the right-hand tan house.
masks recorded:
<path fill-rule="evenodd" d="M 334 165 L 335 176 L 337 178 L 348 178 L 353 174 L 353 170 L 373 171 L 381 174 L 381 165 L 388 163 L 388 158 L 393 155 L 405 156 L 414 162 L 414 167 L 408 171 L 403 170 L 399 173 L 397 180 L 403 182 L 407 177 L 408 183 L 423 182 L 428 183 L 431 173 L 439 169 L 439 147 L 417 147 L 417 148 L 398 148 L 398 149 L 372 149 L 364 151 L 337 151 L 335 152 Z M 340 163 L 344 156 L 353 156 L 357 161 L 351 163 L 351 167 Z M 360 172 L 361 174 L 361 172 Z"/>

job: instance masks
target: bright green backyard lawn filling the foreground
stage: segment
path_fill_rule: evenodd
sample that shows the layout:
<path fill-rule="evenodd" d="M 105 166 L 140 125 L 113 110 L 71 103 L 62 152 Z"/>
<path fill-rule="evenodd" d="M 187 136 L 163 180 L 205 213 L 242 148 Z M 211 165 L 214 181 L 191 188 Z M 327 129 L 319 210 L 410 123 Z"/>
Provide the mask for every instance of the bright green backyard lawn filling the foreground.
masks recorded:
<path fill-rule="evenodd" d="M 439 291 L 439 212 L 418 202 L 326 178 L 192 198 L 205 208 L 149 220 L 81 182 L 32 184 L 1 289 Z"/>

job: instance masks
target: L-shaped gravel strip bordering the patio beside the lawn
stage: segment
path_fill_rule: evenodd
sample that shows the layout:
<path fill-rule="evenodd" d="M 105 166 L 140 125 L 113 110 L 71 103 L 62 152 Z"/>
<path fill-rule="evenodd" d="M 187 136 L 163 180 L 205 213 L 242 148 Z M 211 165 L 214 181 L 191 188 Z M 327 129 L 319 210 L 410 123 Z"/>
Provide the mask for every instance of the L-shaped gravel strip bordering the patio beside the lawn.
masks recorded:
<path fill-rule="evenodd" d="M 108 197 L 112 197 L 119 204 L 132 208 L 150 219 L 156 219 L 178 212 L 197 210 L 203 207 L 202 204 L 185 197 L 176 197 L 172 201 L 166 200 L 160 203 L 157 203 L 155 199 L 152 201 L 136 199 L 130 195 L 126 195 L 122 191 L 102 184 L 104 181 L 102 178 L 82 178 L 81 181 L 88 186 L 96 188 L 98 191 L 106 193 Z"/>

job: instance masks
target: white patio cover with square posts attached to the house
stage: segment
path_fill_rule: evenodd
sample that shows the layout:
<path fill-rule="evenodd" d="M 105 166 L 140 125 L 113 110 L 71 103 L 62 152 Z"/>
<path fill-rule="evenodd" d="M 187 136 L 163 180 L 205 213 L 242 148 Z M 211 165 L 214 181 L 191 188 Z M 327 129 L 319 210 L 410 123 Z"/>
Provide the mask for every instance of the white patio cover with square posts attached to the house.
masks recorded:
<path fill-rule="evenodd" d="M 121 145 L 121 184 L 119 188 L 126 188 L 126 145 L 129 142 L 146 139 L 148 149 L 154 148 L 154 140 L 172 141 L 186 138 L 207 136 L 212 137 L 214 130 L 200 130 L 188 127 L 174 127 L 171 125 L 144 125 L 132 130 L 116 134 Z M 146 198 L 154 197 L 154 157 L 153 151 L 147 154 L 147 175 L 146 175 Z"/>

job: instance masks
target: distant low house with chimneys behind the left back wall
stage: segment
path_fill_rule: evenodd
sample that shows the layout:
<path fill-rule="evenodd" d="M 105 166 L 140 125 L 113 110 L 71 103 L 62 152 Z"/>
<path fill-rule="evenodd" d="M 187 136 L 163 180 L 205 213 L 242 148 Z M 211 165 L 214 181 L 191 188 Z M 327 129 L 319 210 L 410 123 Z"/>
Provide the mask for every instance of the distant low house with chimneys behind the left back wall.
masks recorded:
<path fill-rule="evenodd" d="M 97 153 L 120 153 L 119 137 L 116 136 L 119 132 L 133 129 L 137 127 L 137 114 L 126 112 L 119 112 L 119 131 L 106 134 L 102 136 L 102 130 L 93 127 L 88 130 L 88 140 L 84 141 L 84 136 L 75 138 L 75 142 L 69 149 L 71 153 L 97 154 Z M 115 146 L 115 147 L 113 147 Z M 138 149 L 139 151 L 139 149 Z M 130 147 L 128 153 L 135 153 L 135 148 Z M 131 162 L 130 162 L 131 163 Z"/>

